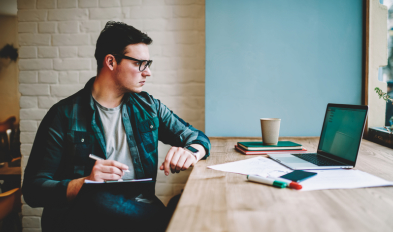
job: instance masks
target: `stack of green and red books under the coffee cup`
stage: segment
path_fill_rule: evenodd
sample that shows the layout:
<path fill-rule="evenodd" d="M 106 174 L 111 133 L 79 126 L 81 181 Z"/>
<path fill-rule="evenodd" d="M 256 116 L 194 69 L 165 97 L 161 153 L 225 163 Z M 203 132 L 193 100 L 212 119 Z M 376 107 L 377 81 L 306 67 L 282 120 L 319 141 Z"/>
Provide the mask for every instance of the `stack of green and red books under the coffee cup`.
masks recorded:
<path fill-rule="evenodd" d="M 277 145 L 263 145 L 263 142 L 238 142 L 235 150 L 244 155 L 265 155 L 270 153 L 305 153 L 301 144 L 279 141 Z"/>

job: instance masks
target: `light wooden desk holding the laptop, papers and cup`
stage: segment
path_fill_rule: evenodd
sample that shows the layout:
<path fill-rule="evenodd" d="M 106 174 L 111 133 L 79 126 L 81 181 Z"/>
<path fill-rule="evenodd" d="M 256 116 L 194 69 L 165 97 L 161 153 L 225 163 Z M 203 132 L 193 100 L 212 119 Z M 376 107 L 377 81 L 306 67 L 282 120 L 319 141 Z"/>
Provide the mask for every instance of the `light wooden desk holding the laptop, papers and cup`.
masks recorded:
<path fill-rule="evenodd" d="M 211 155 L 194 167 L 167 232 L 393 231 L 393 187 L 297 192 L 246 181 L 206 168 L 256 157 L 234 150 L 238 141 L 210 138 Z M 316 152 L 317 137 L 282 137 Z M 361 142 L 356 169 L 393 181 L 393 149 Z"/>

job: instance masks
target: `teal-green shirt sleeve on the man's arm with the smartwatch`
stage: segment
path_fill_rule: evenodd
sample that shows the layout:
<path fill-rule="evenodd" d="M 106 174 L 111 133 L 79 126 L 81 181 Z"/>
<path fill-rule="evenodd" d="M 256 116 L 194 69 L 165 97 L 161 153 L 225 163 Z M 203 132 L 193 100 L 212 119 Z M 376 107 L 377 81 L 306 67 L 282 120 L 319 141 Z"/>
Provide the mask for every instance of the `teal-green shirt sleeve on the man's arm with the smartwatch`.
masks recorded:
<path fill-rule="evenodd" d="M 208 137 L 175 115 L 160 100 L 154 99 L 154 102 L 159 117 L 159 140 L 175 147 L 199 144 L 205 149 L 205 156 L 202 159 L 206 159 L 211 150 Z"/>

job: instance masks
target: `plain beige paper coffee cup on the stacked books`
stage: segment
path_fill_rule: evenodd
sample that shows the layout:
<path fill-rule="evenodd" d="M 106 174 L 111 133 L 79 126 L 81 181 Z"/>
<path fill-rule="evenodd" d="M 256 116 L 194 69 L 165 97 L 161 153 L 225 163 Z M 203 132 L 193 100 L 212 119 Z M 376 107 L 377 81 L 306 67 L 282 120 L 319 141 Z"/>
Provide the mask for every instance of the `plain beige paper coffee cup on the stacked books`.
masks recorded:
<path fill-rule="evenodd" d="M 263 145 L 277 145 L 279 140 L 280 118 L 260 118 Z"/>

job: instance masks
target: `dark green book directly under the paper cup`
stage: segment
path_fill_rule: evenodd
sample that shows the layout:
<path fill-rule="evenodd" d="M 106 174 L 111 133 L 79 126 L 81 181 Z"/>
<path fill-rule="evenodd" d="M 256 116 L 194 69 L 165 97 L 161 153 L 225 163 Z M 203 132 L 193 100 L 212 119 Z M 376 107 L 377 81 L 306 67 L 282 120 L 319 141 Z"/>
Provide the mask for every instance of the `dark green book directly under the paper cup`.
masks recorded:
<path fill-rule="evenodd" d="M 302 145 L 290 141 L 279 141 L 277 145 L 263 145 L 263 142 L 238 142 L 238 146 L 248 151 L 301 150 Z"/>

